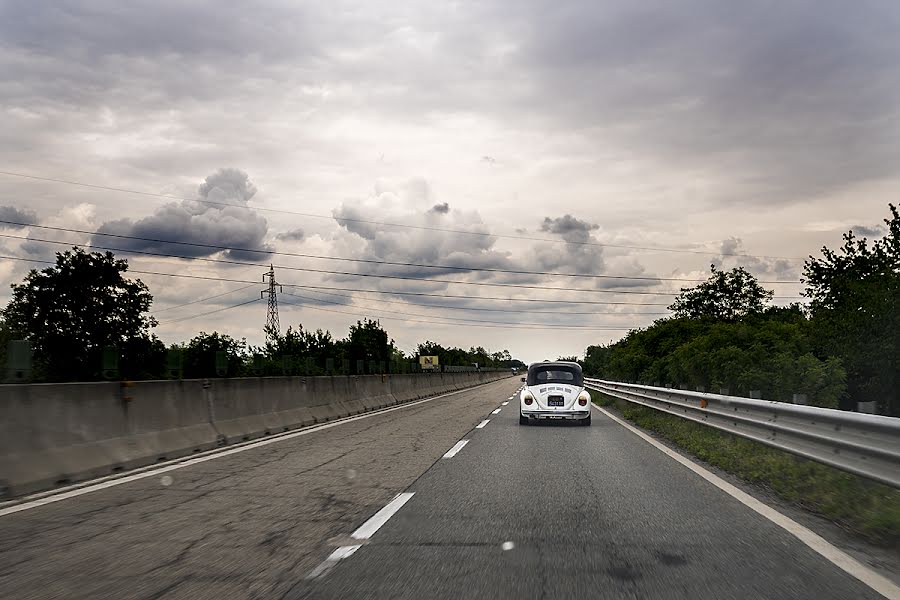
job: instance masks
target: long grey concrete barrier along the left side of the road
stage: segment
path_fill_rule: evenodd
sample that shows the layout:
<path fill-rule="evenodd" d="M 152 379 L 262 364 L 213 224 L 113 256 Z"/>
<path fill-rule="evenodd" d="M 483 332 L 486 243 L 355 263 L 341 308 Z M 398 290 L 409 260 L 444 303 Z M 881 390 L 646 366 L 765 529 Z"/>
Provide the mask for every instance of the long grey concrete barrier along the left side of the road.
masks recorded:
<path fill-rule="evenodd" d="M 18 496 L 507 377 L 421 373 L 0 386 L 0 496 Z"/>

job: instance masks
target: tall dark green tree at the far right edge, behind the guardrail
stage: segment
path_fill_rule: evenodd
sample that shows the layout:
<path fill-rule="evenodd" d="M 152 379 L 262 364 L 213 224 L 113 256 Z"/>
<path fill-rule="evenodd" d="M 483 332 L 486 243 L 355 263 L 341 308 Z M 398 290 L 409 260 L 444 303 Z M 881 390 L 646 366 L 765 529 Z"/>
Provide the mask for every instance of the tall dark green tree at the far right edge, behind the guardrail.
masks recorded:
<path fill-rule="evenodd" d="M 869 245 L 853 232 L 803 269 L 818 354 L 840 357 L 852 401 L 900 415 L 900 215 L 889 205 L 886 235 Z"/>

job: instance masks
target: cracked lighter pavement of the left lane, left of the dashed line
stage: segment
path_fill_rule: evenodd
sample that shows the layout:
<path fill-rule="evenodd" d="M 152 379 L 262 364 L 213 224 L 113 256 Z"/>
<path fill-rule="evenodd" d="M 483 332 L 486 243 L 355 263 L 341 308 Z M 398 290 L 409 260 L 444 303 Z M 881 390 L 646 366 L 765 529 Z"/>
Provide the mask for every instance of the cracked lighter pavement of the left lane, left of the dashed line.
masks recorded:
<path fill-rule="evenodd" d="M 281 598 L 518 385 L 0 517 L 0 598 Z"/>

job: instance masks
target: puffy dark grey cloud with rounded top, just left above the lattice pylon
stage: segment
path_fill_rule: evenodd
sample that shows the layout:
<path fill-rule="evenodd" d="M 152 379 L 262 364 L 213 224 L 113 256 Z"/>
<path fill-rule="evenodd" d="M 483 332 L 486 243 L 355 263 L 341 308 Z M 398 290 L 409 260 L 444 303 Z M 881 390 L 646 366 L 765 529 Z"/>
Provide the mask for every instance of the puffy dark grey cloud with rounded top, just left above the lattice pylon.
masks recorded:
<path fill-rule="evenodd" d="M 116 245 L 128 250 L 191 257 L 211 256 L 221 252 L 221 248 L 259 250 L 228 250 L 224 255 L 237 260 L 264 260 L 271 251 L 264 242 L 268 225 L 246 206 L 255 193 L 256 187 L 246 173 L 220 169 L 200 186 L 197 201 L 171 202 L 137 221 L 109 221 L 97 230 L 93 242 L 103 245 L 115 240 Z M 203 200 L 230 206 L 207 204 Z M 142 239 L 110 238 L 103 236 L 104 233 Z"/>

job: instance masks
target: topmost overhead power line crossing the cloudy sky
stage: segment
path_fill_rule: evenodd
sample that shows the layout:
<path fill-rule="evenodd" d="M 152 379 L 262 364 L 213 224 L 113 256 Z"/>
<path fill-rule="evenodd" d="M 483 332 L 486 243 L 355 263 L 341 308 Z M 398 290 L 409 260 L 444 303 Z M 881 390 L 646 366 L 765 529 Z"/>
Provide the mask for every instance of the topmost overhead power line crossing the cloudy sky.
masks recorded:
<path fill-rule="evenodd" d="M 198 202 L 200 204 L 208 204 L 211 206 L 226 206 L 232 208 L 249 208 L 246 205 L 242 204 L 231 204 L 228 202 L 216 202 L 214 200 L 206 200 L 200 198 L 184 198 L 181 196 L 174 196 L 169 194 L 157 194 L 153 192 L 144 192 L 140 190 L 131 190 L 126 188 L 112 187 L 107 185 L 97 185 L 93 183 L 84 183 L 81 181 L 72 181 L 68 179 L 57 179 L 53 177 L 41 177 L 38 175 L 29 175 L 26 173 L 16 173 L 13 171 L 0 171 L 0 175 L 7 175 L 9 177 L 20 177 L 23 179 L 32 179 L 35 181 L 47 181 L 53 183 L 62 183 L 65 185 L 74 185 L 79 187 L 91 188 L 96 190 L 105 190 L 111 192 L 120 192 L 125 194 L 135 194 L 139 196 L 151 197 L 151 198 L 162 198 L 166 200 L 181 200 L 187 202 Z M 329 221 L 337 221 L 337 222 L 346 222 L 346 223 L 363 223 L 366 225 L 380 225 L 382 227 L 399 227 L 406 229 L 420 229 L 425 231 L 440 231 L 445 233 L 459 233 L 464 235 L 473 235 L 479 237 L 496 237 L 496 238 L 504 238 L 504 239 L 513 239 L 513 240 L 526 240 L 529 242 L 551 242 L 555 244 L 573 244 L 578 246 L 599 246 L 602 248 L 620 248 L 625 250 L 643 250 L 650 252 L 673 252 L 673 253 L 681 253 L 681 254 L 699 254 L 703 256 L 737 256 L 737 257 L 745 257 L 745 258 L 764 258 L 769 260 L 806 260 L 805 258 L 796 257 L 796 256 L 765 256 L 765 255 L 754 255 L 754 254 L 745 254 L 739 252 L 709 252 L 704 250 L 688 250 L 685 248 L 664 248 L 659 246 L 636 246 L 629 244 L 605 244 L 600 242 L 578 242 L 578 241 L 568 241 L 568 240 L 560 240 L 556 238 L 536 238 L 529 237 L 524 235 L 510 235 L 510 234 L 500 234 L 500 233 L 490 233 L 485 231 L 469 231 L 465 229 L 450 229 L 444 227 L 428 227 L 425 225 L 409 225 L 406 223 L 388 223 L 384 221 L 371 221 L 367 219 L 352 219 L 352 218 L 343 218 L 336 217 L 334 215 L 320 215 L 315 213 L 304 213 L 292 210 L 284 210 L 277 208 L 265 208 L 265 207 L 253 207 L 252 210 L 258 210 L 261 212 L 272 212 L 272 213 L 280 213 L 280 214 L 288 214 L 288 215 L 296 215 L 300 217 L 308 217 L 313 219 L 326 219 Z"/>

